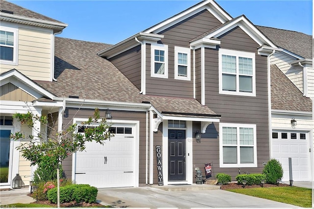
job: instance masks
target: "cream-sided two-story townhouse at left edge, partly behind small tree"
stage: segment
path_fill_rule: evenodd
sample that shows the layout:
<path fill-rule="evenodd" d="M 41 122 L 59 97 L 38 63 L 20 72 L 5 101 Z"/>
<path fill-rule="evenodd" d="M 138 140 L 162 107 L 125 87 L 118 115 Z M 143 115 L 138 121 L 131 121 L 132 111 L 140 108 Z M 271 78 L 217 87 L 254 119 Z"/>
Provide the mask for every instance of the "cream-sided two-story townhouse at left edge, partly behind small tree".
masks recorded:
<path fill-rule="evenodd" d="M 1 187 L 10 186 L 17 173 L 23 176 L 26 185 L 30 180 L 29 162 L 16 150 L 20 142 L 11 140 L 10 134 L 22 130 L 37 136 L 37 132 L 21 126 L 12 114 L 17 111 L 26 113 L 30 109 L 35 114 L 47 115 L 49 107 L 38 99 L 43 96 L 52 99 L 54 95 L 34 80 L 52 82 L 54 79 L 54 35 L 67 26 L 12 5 L 0 1 Z"/>

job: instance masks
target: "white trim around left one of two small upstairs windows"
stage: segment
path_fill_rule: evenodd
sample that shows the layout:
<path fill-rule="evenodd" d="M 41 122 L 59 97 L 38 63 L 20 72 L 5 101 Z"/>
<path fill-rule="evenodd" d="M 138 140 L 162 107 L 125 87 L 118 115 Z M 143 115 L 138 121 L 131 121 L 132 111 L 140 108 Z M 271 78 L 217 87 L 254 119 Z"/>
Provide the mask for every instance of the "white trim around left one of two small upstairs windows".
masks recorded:
<path fill-rule="evenodd" d="M 165 58 L 165 72 L 164 75 L 155 74 L 155 50 L 164 51 Z M 151 77 L 154 78 L 168 78 L 168 45 L 152 44 L 151 45 Z"/>

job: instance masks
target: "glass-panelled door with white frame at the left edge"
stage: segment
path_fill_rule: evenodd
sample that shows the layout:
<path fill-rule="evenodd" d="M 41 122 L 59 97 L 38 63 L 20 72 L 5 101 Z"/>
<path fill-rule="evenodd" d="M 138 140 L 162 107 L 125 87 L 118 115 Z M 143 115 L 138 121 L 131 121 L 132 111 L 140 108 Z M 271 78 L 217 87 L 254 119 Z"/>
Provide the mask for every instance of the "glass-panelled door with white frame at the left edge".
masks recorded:
<path fill-rule="evenodd" d="M 10 185 L 13 140 L 12 129 L 0 129 L 0 185 Z"/>

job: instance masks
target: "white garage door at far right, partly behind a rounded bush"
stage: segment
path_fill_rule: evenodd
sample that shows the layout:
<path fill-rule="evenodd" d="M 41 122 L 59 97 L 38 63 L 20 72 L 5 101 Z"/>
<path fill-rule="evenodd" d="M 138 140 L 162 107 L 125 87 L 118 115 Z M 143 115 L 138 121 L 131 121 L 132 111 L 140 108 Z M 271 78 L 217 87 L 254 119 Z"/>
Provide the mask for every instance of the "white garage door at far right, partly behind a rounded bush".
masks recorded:
<path fill-rule="evenodd" d="M 292 162 L 293 181 L 311 181 L 309 133 L 301 131 L 273 131 L 272 157 L 278 159 L 284 169 L 282 181 L 289 181 L 289 162 Z"/>

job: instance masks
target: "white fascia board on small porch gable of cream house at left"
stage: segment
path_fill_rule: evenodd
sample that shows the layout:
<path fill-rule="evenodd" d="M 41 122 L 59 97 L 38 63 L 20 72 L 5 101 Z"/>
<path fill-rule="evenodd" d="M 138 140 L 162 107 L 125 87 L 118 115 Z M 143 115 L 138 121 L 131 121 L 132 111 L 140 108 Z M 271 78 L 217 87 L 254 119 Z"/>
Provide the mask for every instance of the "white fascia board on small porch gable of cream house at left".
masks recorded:
<path fill-rule="evenodd" d="M 25 83 L 27 86 L 31 87 L 32 89 L 35 89 L 37 92 L 40 92 L 41 94 L 43 94 L 44 96 L 46 96 L 46 97 L 48 97 L 50 99 L 55 97 L 54 94 L 52 94 L 51 92 L 47 91 L 46 89 L 44 89 L 43 87 L 41 87 L 40 85 L 38 85 L 37 83 L 32 81 L 31 79 L 27 78 L 23 74 L 19 73 L 17 70 L 11 70 L 11 72 L 2 74 L 0 76 L 0 82 L 2 80 L 5 82 L 6 79 L 11 79 L 13 77 L 19 79 L 20 82 Z M 2 82 L 1 82 L 1 85 L 2 85 Z M 29 92 L 27 92 L 27 93 L 29 93 Z"/>

